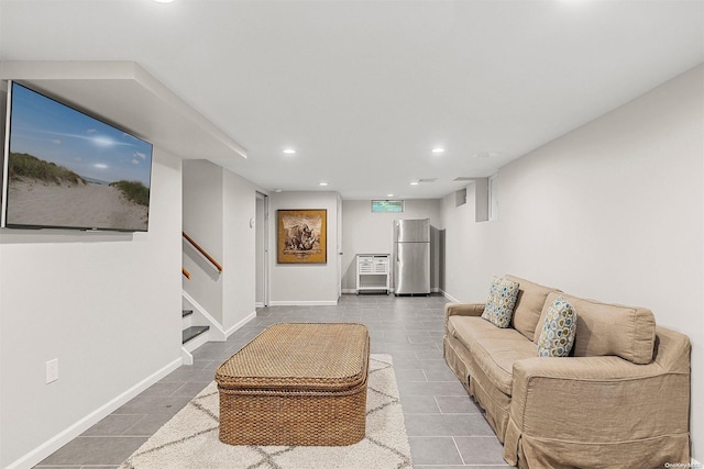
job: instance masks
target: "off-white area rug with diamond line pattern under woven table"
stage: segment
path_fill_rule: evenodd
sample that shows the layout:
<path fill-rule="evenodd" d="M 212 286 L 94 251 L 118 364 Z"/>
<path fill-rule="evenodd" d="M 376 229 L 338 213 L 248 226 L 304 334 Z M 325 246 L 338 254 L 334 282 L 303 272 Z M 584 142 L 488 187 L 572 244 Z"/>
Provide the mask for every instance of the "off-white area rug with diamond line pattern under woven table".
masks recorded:
<path fill-rule="evenodd" d="M 366 437 L 350 446 L 231 446 L 218 439 L 219 400 L 211 382 L 120 469 L 404 469 L 410 447 L 389 355 L 372 354 Z"/>

